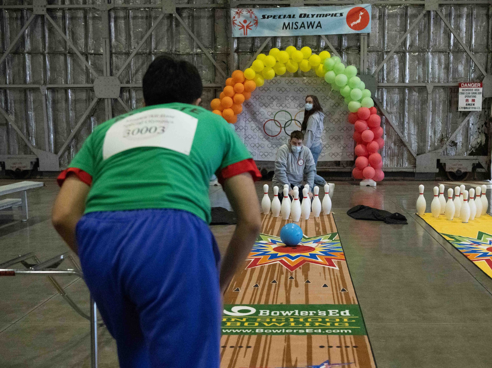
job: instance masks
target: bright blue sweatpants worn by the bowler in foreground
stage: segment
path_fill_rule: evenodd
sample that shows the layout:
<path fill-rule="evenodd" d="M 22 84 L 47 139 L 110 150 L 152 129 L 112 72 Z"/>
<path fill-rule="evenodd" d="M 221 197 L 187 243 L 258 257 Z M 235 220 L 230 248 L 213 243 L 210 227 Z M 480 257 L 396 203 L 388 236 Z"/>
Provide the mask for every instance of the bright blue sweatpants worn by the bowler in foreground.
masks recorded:
<path fill-rule="evenodd" d="M 175 209 L 93 212 L 76 234 L 120 367 L 219 367 L 220 254 L 202 219 Z"/>

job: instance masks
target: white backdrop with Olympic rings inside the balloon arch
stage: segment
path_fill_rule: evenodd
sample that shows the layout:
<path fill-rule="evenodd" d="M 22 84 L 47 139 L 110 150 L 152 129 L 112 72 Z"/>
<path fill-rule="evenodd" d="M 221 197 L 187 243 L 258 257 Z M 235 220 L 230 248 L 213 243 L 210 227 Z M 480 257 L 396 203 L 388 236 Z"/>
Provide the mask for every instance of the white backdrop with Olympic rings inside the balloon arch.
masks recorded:
<path fill-rule="evenodd" d="M 354 159 L 354 127 L 347 121 L 343 97 L 320 78 L 274 78 L 252 92 L 235 130 L 253 159 L 275 161 L 278 147 L 289 140 L 292 131 L 301 130 L 308 94 L 318 97 L 325 113 L 318 161 Z"/>

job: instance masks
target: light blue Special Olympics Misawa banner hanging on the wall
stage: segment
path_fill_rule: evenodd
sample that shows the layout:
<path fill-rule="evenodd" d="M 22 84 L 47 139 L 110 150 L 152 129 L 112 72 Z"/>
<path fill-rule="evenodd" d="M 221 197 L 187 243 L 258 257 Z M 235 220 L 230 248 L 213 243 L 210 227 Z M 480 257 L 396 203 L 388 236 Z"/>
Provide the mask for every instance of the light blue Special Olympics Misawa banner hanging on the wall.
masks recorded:
<path fill-rule="evenodd" d="M 369 33 L 370 4 L 231 9 L 233 37 Z"/>

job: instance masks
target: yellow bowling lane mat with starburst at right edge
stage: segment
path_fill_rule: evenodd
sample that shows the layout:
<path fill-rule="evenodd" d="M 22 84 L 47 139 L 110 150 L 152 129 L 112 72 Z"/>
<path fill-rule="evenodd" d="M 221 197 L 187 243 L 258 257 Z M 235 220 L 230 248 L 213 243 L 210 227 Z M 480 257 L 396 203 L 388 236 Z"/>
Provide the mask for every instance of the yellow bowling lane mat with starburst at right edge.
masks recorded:
<path fill-rule="evenodd" d="M 463 224 L 460 219 L 452 221 L 444 215 L 419 215 L 435 231 L 492 278 L 492 216 L 482 215 Z"/>

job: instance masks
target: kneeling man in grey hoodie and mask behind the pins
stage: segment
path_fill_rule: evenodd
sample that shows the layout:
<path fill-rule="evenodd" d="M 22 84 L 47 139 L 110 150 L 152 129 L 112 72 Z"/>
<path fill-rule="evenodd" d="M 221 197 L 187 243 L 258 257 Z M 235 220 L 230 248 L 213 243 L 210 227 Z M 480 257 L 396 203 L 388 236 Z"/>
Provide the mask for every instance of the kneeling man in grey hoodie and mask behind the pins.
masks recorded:
<path fill-rule="evenodd" d="M 272 184 L 278 186 L 278 198 L 282 201 L 283 186 L 289 185 L 289 196 L 293 197 L 292 188 L 299 187 L 299 198 L 303 198 L 303 177 L 306 176 L 306 184 L 309 185 L 309 198 L 312 198 L 311 189 L 314 185 L 316 175 L 316 164 L 312 158 L 311 151 L 303 145 L 304 134 L 295 130 L 290 134 L 286 144 L 278 148 L 275 156 L 275 174 Z"/>

